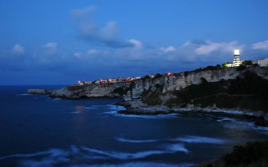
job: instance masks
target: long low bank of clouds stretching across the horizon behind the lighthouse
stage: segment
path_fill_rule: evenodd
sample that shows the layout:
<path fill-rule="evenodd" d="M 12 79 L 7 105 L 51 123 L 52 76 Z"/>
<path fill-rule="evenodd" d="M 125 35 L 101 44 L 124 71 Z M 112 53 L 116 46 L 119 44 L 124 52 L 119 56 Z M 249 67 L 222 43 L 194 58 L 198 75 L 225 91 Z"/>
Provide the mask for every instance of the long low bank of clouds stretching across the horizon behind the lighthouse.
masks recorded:
<path fill-rule="evenodd" d="M 138 39 L 129 39 L 128 42 L 134 47 L 114 49 L 96 47 L 69 54 L 61 50 L 55 42 L 48 42 L 37 49 L 29 50 L 27 56 L 14 56 L 16 55 L 14 51 L 0 51 L 0 74 L 4 75 L 8 71 L 14 75 L 16 73 L 30 76 L 32 73 L 31 78 L 35 78 L 32 76 L 36 74 L 32 71 L 39 71 L 44 73 L 42 78 L 52 78 L 51 76 L 55 75 L 75 82 L 75 80 L 116 78 L 118 75 L 130 77 L 148 73 L 193 70 L 232 61 L 233 49 L 236 48 L 242 49 L 243 60 L 266 58 L 268 54 L 264 49 L 252 49 L 253 44 L 245 46 L 234 41 L 189 40 L 178 47 L 173 45 L 146 47 Z M 40 77 L 37 77 L 36 82 Z"/>

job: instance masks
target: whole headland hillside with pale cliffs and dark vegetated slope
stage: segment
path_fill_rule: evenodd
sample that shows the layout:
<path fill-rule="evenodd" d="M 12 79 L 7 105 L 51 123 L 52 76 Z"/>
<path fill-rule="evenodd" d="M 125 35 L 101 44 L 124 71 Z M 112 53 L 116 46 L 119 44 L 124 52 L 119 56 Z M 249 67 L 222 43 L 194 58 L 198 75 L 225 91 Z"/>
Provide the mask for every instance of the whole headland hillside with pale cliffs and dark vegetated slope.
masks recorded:
<path fill-rule="evenodd" d="M 268 111 L 268 68 L 209 66 L 174 75 L 159 75 L 133 82 L 73 85 L 57 89 L 51 97 L 122 97 L 142 106 L 219 107 Z M 138 105 L 133 105 L 134 108 Z"/>

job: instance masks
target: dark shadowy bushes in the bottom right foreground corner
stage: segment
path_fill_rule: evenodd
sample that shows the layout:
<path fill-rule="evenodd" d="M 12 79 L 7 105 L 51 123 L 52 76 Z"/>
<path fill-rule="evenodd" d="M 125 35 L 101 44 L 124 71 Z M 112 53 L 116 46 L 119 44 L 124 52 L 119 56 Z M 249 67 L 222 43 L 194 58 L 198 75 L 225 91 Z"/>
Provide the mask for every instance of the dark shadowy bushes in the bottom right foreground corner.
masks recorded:
<path fill-rule="evenodd" d="M 268 166 L 268 140 L 248 142 L 245 146 L 237 145 L 233 151 L 224 154 L 218 161 L 201 163 L 196 167 L 225 167 L 225 166 Z"/>

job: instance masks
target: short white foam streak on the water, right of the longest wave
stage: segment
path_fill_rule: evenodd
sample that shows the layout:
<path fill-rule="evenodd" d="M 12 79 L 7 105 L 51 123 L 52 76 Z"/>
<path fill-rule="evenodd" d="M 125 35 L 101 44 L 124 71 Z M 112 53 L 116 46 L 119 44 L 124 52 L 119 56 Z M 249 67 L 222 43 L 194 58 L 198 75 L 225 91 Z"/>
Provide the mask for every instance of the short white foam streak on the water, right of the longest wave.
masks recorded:
<path fill-rule="evenodd" d="M 178 142 L 188 142 L 188 143 L 209 143 L 209 144 L 224 144 L 226 141 L 212 138 L 212 137 L 200 137 L 200 136 L 185 136 L 185 137 L 177 137 L 175 139 L 171 139 L 173 141 Z"/>

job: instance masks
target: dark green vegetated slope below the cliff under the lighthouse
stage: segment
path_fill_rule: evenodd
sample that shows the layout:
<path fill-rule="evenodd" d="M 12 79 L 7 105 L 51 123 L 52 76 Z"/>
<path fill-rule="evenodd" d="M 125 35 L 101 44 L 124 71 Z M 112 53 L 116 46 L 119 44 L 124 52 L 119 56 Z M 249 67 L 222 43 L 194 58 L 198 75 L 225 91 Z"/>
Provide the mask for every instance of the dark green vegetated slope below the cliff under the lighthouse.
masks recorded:
<path fill-rule="evenodd" d="M 220 108 L 241 108 L 268 112 L 268 80 L 256 73 L 245 71 L 242 77 L 234 80 L 206 82 L 190 85 L 185 89 L 173 91 L 176 96 L 166 101 L 167 106 L 200 104 L 202 107 L 216 104 Z"/>

